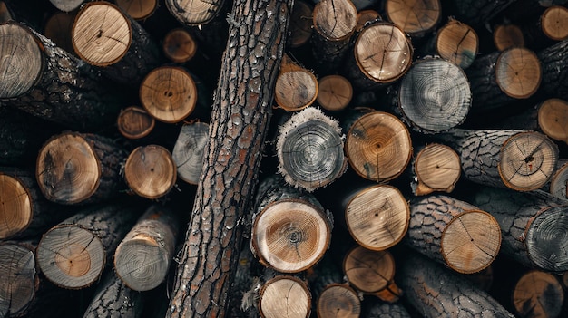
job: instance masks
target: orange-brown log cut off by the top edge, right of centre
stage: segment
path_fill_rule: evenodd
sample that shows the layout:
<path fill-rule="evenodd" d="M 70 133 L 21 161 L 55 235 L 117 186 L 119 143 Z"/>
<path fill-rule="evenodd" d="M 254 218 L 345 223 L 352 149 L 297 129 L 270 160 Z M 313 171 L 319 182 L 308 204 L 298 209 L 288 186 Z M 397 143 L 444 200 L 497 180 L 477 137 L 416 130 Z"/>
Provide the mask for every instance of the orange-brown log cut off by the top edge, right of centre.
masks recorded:
<path fill-rule="evenodd" d="M 432 31 L 442 16 L 439 0 L 387 0 L 384 5 L 387 19 L 413 37 Z"/>

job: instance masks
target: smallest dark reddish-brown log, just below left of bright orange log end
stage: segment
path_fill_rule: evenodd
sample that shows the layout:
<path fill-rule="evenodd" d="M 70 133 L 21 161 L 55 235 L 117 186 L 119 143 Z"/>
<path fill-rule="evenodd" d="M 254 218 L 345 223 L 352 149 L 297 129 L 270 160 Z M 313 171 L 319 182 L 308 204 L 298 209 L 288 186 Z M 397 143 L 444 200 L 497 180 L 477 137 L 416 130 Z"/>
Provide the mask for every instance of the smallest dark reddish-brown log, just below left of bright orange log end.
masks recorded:
<path fill-rule="evenodd" d="M 122 136 L 135 140 L 148 136 L 156 120 L 147 111 L 137 106 L 130 106 L 118 115 L 116 125 Z"/>

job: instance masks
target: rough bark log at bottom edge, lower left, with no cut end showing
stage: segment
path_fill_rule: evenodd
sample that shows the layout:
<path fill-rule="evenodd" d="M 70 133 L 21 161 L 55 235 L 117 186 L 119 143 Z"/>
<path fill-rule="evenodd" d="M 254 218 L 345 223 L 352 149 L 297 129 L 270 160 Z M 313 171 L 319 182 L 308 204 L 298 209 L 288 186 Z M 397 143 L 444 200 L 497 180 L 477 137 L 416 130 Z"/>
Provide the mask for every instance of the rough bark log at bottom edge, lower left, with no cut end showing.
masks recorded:
<path fill-rule="evenodd" d="M 128 288 L 113 269 L 109 269 L 101 279 L 101 283 L 97 285 L 83 318 L 139 318 L 144 313 L 143 309 L 142 294 Z"/>

